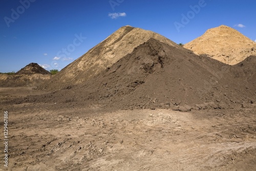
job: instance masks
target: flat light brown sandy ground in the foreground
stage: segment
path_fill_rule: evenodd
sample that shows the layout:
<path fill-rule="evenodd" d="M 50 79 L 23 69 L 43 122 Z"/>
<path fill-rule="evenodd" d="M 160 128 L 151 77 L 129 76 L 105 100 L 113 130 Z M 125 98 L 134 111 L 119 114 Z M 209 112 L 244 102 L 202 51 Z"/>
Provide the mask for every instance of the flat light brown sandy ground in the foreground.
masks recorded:
<path fill-rule="evenodd" d="M 0 101 L 42 94 L 1 88 Z M 9 165 L 0 170 L 255 170 L 256 108 L 192 111 L 6 104 Z M 2 131 L 2 139 L 3 131 Z M 4 144 L 0 145 L 4 158 Z"/>

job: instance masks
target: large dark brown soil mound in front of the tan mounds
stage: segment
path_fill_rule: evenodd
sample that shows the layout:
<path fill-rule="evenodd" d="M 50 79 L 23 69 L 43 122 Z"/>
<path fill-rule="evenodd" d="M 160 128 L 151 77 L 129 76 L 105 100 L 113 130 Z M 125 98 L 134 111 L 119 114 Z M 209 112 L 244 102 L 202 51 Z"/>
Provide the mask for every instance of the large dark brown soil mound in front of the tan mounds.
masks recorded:
<path fill-rule="evenodd" d="M 111 68 L 80 84 L 11 103 L 56 103 L 53 108 L 224 109 L 254 103 L 256 57 L 235 66 L 150 39 Z"/>

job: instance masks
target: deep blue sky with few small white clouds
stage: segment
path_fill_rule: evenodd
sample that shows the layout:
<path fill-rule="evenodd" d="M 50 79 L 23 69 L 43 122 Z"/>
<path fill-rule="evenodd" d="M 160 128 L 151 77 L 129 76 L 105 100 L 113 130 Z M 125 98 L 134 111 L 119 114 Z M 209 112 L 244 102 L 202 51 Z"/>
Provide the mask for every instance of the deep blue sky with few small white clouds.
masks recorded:
<path fill-rule="evenodd" d="M 0 72 L 31 62 L 60 70 L 126 25 L 183 44 L 220 25 L 256 40 L 255 7 L 255 0 L 2 0 Z"/>

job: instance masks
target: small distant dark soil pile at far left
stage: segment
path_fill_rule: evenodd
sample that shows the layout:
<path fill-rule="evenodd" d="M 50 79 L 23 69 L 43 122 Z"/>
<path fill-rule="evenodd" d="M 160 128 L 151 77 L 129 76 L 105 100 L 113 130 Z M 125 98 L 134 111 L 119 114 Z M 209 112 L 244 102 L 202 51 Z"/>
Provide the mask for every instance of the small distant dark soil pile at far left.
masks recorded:
<path fill-rule="evenodd" d="M 29 63 L 26 67 L 22 68 L 18 72 L 15 73 L 16 75 L 32 75 L 32 74 L 51 74 L 49 71 L 45 70 L 44 68 L 40 67 L 37 63 Z"/>

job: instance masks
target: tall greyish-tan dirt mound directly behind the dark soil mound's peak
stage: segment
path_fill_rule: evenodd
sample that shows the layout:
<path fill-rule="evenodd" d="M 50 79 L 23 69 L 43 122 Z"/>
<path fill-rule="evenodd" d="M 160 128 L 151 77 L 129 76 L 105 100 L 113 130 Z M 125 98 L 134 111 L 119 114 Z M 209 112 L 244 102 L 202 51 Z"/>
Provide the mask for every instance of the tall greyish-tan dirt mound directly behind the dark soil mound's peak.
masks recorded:
<path fill-rule="evenodd" d="M 78 84 L 88 80 L 108 67 L 111 67 L 123 56 L 132 53 L 134 48 L 150 38 L 180 48 L 175 42 L 152 31 L 125 26 L 118 29 L 86 54 L 62 69 L 56 77 L 42 84 L 41 89 L 60 89 L 69 84 Z"/>

